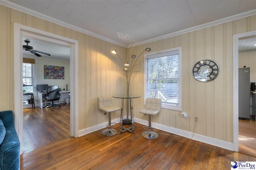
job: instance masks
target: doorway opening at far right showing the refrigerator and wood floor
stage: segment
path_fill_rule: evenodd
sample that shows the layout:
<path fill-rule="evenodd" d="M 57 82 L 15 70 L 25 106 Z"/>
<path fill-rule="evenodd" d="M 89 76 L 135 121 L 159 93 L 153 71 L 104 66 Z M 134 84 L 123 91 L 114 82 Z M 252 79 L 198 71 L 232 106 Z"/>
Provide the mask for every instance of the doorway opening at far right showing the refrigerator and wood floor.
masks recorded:
<path fill-rule="evenodd" d="M 238 42 L 238 152 L 256 157 L 255 94 L 250 92 L 250 82 L 256 82 L 256 35 L 239 38 Z"/>

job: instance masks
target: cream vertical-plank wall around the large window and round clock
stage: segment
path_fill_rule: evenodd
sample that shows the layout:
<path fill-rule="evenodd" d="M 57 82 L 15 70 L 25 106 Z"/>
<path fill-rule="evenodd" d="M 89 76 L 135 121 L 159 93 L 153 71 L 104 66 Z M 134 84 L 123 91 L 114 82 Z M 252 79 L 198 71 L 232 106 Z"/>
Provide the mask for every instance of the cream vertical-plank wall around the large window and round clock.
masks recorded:
<path fill-rule="evenodd" d="M 144 45 L 131 47 L 127 57 L 140 54 L 146 47 L 152 52 L 182 47 L 182 112 L 162 109 L 152 122 L 193 132 L 194 116 L 198 117 L 195 133 L 233 141 L 233 35 L 256 30 L 256 16 L 207 27 Z M 220 68 L 218 77 L 211 82 L 199 82 L 192 76 L 194 64 L 201 59 L 212 59 Z M 131 92 L 143 94 L 134 102 L 134 117 L 148 120 L 138 110 L 144 100 L 144 58 L 140 59 L 140 72 L 132 78 Z"/>

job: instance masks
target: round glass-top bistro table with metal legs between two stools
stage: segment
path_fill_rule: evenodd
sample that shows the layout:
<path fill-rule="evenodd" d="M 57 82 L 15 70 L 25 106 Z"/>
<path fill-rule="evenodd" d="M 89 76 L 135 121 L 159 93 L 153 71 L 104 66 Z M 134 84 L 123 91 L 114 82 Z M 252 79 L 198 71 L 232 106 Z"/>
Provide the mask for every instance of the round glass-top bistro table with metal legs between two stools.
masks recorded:
<path fill-rule="evenodd" d="M 132 99 L 133 98 L 140 98 L 141 95 L 139 94 L 116 94 L 116 95 L 113 95 L 112 96 L 113 98 L 120 98 L 122 99 L 122 109 L 121 109 L 121 121 L 120 121 L 120 132 L 123 133 L 125 131 L 129 131 L 131 133 L 134 132 L 134 123 L 133 123 L 133 106 L 132 106 Z M 123 120 L 123 108 L 124 108 L 124 99 L 127 99 L 127 110 L 126 110 L 126 113 L 127 113 L 127 117 L 126 119 Z M 128 103 L 128 99 L 130 99 L 130 110 L 131 110 L 131 120 L 128 119 L 128 112 L 129 112 L 129 103 Z M 123 124 L 125 125 L 129 125 L 129 124 L 132 124 L 131 127 L 128 127 L 128 128 L 124 128 L 123 127 Z"/>

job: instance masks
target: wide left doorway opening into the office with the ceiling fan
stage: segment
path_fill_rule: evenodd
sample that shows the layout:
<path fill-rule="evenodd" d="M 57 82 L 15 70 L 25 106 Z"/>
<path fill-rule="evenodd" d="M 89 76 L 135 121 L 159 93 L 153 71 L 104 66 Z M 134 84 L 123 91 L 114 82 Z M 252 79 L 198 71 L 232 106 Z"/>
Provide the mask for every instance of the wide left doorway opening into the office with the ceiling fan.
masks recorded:
<path fill-rule="evenodd" d="M 30 100 L 30 96 L 24 96 L 23 153 L 26 153 L 70 137 L 69 104 L 67 104 L 68 107 L 65 107 L 70 92 L 70 47 L 24 36 L 22 37 L 22 42 L 25 48 L 28 47 L 35 50 L 22 51 L 22 78 L 23 84 L 25 84 L 23 91 L 34 94 L 33 101 L 36 106 L 31 107 L 30 102 L 26 102 Z M 28 42 L 29 46 L 27 45 Z M 30 61 L 34 62 L 30 63 Z M 56 78 L 45 77 L 44 70 L 47 65 L 63 68 L 64 72 L 60 72 L 62 76 Z M 47 85 L 57 85 L 61 88 L 60 99 L 57 101 L 56 108 L 49 107 L 45 109 L 44 107 L 45 92 L 41 91 L 45 91 Z"/>

